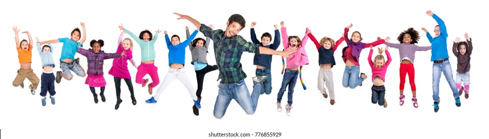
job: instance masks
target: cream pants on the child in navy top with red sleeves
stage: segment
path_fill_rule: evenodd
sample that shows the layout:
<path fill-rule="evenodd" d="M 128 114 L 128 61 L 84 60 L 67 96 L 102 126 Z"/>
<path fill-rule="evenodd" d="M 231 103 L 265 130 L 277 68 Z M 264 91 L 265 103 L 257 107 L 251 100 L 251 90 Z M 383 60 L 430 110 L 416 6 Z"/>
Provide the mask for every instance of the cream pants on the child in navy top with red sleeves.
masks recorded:
<path fill-rule="evenodd" d="M 330 92 L 329 96 L 331 99 L 335 99 L 335 85 L 333 82 L 333 70 L 321 70 L 319 69 L 318 73 L 318 90 L 321 93 L 326 94 L 326 88 L 324 88 L 324 84 L 328 87 L 328 91 Z"/>

